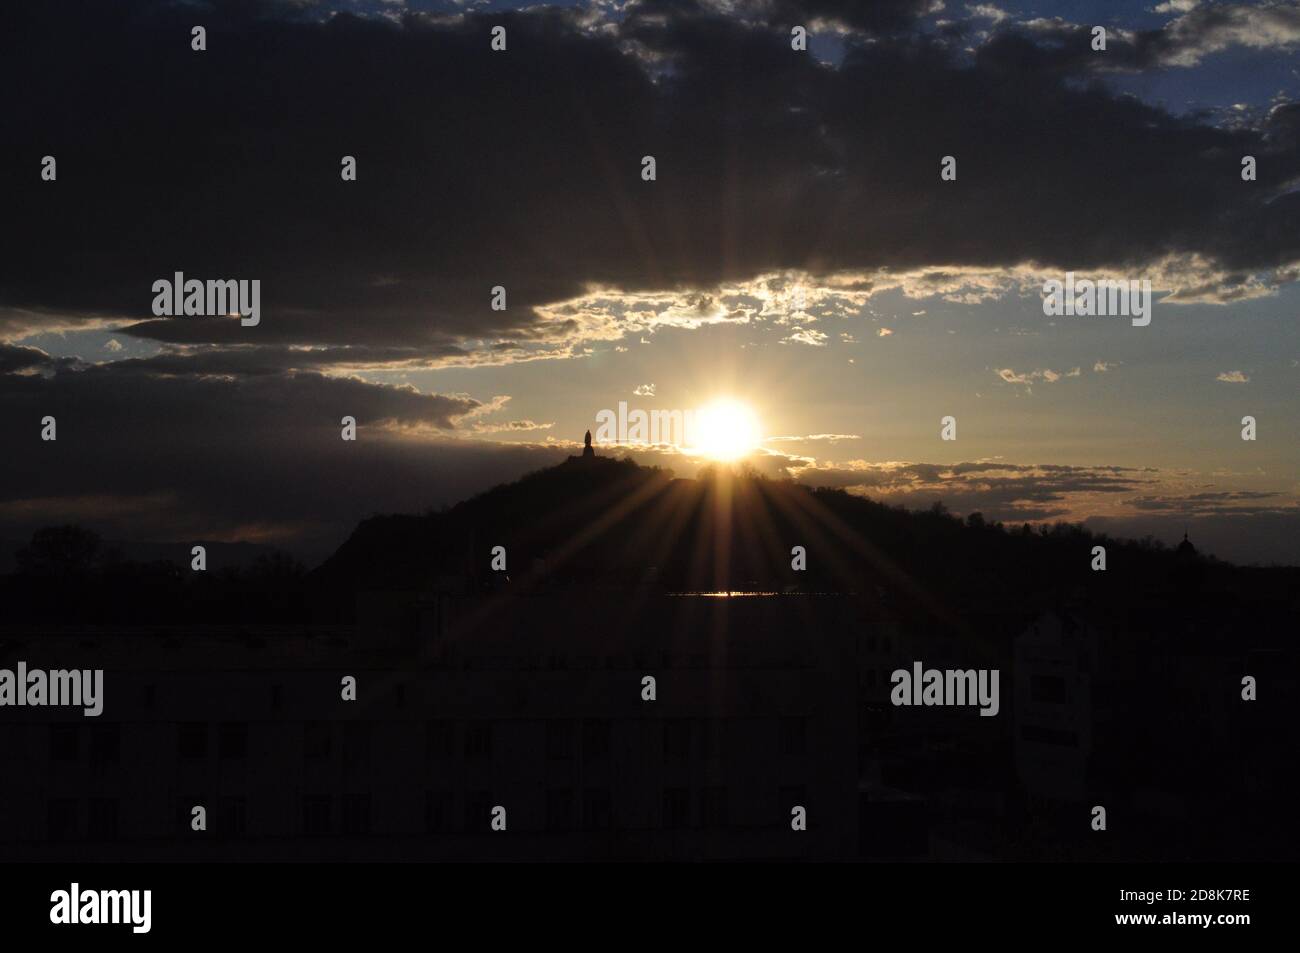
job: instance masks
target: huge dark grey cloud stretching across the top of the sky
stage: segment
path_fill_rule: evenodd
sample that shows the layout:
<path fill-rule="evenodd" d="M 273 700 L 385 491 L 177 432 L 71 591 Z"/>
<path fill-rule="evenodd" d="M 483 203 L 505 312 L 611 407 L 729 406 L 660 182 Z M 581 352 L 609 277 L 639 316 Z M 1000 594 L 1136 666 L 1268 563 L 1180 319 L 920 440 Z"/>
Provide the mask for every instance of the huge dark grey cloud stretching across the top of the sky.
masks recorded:
<path fill-rule="evenodd" d="M 1294 109 L 1262 130 L 1070 82 L 1086 36 L 850 38 L 840 69 L 786 17 L 905 27 L 923 5 L 638 4 L 286 20 L 127 0 L 0 17 L 8 196 L 0 307 L 139 319 L 168 342 L 404 347 L 437 360 L 578 333 L 532 306 L 588 282 L 712 286 L 777 268 L 1140 265 L 1300 257 Z M 290 8 L 298 9 L 298 8 Z M 208 52 L 190 49 L 203 20 Z M 488 47 L 493 23 L 510 49 Z M 1070 46 L 1072 44 L 1072 46 Z M 42 155 L 57 183 L 38 181 Z M 659 178 L 640 179 L 640 159 Z M 1239 159 L 1260 157 L 1244 189 Z M 339 179 L 354 155 L 359 181 Z M 958 181 L 939 159 L 958 157 Z M 260 278 L 257 328 L 152 320 L 151 283 Z M 494 285 L 510 308 L 494 312 Z M 473 343 L 469 343 L 473 342 Z"/>

